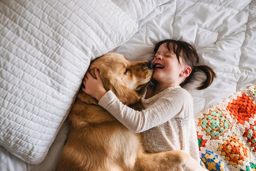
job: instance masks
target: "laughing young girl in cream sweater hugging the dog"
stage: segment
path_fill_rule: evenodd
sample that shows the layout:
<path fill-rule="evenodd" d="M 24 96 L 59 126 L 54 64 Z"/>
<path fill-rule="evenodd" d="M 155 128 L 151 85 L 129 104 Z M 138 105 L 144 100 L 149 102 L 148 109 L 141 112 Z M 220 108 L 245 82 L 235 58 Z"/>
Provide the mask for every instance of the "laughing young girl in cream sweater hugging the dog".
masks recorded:
<path fill-rule="evenodd" d="M 154 87 L 147 87 L 142 111 L 120 102 L 114 93 L 106 92 L 99 71 L 97 79 L 89 72 L 82 90 L 99 101 L 119 122 L 135 133 L 142 133 L 147 152 L 183 150 L 200 162 L 193 115 L 192 96 L 183 88 L 195 70 L 205 72 L 207 79 L 198 90 L 207 88 L 216 77 L 208 66 L 197 66 L 195 47 L 184 41 L 164 40 L 157 43 L 152 61 Z"/>

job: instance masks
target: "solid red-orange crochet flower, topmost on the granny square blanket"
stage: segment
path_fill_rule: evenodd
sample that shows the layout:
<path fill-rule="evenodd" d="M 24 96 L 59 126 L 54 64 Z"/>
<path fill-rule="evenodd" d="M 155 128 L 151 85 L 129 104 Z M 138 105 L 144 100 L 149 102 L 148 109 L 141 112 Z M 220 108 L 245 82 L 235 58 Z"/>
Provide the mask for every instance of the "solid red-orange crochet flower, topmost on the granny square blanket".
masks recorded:
<path fill-rule="evenodd" d="M 228 103 L 226 110 L 230 111 L 230 115 L 237 119 L 237 123 L 244 125 L 244 121 L 249 122 L 250 118 L 254 118 L 256 114 L 256 104 L 250 99 L 250 96 L 242 94 L 241 97 L 233 99 L 232 103 Z"/>

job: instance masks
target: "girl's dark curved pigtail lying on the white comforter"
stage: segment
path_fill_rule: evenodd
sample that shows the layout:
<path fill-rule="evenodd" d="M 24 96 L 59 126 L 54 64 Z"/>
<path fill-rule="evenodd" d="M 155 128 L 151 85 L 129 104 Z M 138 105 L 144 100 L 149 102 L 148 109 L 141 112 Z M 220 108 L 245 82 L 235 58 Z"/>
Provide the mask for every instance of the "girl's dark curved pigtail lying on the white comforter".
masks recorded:
<path fill-rule="evenodd" d="M 206 65 L 197 66 L 197 70 L 204 72 L 207 76 L 206 80 L 201 83 L 201 86 L 196 88 L 197 90 L 203 90 L 209 87 L 209 85 L 212 84 L 213 79 L 217 77 L 212 68 Z"/>

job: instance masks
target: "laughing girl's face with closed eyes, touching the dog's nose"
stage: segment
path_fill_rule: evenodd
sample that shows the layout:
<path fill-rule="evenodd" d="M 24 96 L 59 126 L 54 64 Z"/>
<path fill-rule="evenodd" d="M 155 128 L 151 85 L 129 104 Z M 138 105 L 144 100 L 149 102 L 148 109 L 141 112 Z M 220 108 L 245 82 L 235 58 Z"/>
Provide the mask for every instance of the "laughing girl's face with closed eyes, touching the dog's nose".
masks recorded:
<path fill-rule="evenodd" d="M 177 56 L 168 50 L 166 43 L 161 44 L 152 61 L 154 67 L 153 78 L 157 82 L 179 85 L 181 82 L 181 72 L 184 69 L 183 59 L 180 57 L 180 63 Z M 180 82 L 181 81 L 181 82 Z"/>

